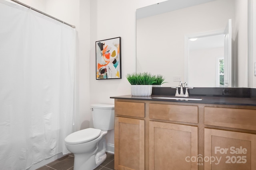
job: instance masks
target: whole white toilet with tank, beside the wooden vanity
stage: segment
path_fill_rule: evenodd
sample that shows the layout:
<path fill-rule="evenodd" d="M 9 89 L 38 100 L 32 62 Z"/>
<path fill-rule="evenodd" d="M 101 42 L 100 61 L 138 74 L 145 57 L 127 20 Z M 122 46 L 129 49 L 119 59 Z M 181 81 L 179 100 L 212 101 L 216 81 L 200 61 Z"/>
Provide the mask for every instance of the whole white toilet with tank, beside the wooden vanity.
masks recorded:
<path fill-rule="evenodd" d="M 114 105 L 92 104 L 94 128 L 87 128 L 68 135 L 66 148 L 74 153 L 74 170 L 93 170 L 106 159 L 108 130 L 114 129 Z"/>

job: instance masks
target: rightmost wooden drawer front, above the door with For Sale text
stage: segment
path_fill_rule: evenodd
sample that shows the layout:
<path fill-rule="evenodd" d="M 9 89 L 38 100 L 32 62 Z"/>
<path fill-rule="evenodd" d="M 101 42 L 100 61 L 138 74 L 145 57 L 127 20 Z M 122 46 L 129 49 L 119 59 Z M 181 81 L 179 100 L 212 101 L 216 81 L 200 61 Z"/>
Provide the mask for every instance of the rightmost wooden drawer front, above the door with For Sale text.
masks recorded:
<path fill-rule="evenodd" d="M 204 107 L 204 124 L 256 130 L 256 110 Z"/>

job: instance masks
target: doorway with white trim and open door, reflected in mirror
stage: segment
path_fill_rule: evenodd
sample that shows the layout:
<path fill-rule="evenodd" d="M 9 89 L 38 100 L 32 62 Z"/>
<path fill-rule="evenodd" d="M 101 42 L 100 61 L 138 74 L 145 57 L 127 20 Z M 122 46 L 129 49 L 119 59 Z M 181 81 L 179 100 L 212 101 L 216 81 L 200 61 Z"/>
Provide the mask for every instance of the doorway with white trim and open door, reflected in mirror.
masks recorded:
<path fill-rule="evenodd" d="M 234 86 L 231 25 L 230 19 L 223 30 L 185 36 L 184 80 L 188 86 Z"/>

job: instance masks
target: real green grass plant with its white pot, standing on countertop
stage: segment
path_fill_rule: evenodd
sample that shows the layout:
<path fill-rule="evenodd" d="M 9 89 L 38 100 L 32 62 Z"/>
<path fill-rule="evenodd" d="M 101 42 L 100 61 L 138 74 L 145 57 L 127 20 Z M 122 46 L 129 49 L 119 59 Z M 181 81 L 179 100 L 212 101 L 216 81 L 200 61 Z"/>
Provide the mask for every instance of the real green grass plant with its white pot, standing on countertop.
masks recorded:
<path fill-rule="evenodd" d="M 148 73 L 127 74 L 126 78 L 130 82 L 132 96 L 151 96 L 152 84 L 155 83 L 155 76 Z"/>

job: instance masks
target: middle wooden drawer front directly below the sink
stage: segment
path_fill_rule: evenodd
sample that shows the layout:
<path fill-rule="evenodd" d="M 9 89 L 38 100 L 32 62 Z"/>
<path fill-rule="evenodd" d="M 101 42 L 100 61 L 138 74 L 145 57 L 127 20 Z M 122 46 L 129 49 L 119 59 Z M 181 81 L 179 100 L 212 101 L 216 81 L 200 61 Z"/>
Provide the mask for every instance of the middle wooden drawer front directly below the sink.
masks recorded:
<path fill-rule="evenodd" d="M 198 106 L 149 104 L 149 118 L 198 123 Z"/>

